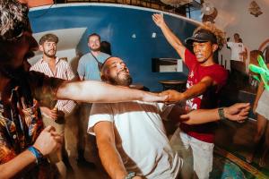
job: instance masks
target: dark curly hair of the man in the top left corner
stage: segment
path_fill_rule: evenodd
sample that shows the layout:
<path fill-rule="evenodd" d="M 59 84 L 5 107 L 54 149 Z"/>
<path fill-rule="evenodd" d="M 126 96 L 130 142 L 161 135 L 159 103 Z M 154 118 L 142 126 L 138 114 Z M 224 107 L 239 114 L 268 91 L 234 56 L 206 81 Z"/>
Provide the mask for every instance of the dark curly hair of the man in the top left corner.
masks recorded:
<path fill-rule="evenodd" d="M 16 38 L 29 28 L 28 11 L 16 0 L 0 1 L 0 40 Z"/>

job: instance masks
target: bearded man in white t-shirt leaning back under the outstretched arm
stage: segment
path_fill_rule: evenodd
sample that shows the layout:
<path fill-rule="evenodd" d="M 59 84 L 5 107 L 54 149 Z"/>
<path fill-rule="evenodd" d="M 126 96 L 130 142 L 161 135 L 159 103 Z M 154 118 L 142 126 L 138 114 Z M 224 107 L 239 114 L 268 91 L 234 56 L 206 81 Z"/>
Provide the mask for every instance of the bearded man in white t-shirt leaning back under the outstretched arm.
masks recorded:
<path fill-rule="evenodd" d="M 109 57 L 103 64 L 101 80 L 129 88 L 132 78 L 126 64 Z M 88 132 L 96 135 L 102 165 L 111 178 L 177 178 L 182 158 L 169 144 L 161 119 L 201 124 L 229 117 L 246 118 L 249 104 L 225 107 L 224 110 L 195 110 L 187 115 L 178 106 L 132 101 L 93 104 Z"/>

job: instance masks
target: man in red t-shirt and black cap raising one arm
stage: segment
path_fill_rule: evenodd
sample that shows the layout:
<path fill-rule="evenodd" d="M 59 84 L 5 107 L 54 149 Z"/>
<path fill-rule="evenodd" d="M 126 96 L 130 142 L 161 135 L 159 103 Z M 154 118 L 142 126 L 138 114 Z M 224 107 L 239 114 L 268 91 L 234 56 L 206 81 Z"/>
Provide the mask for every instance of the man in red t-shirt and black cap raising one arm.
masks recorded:
<path fill-rule="evenodd" d="M 219 48 L 218 41 L 221 41 L 214 35 L 212 30 L 205 29 L 202 26 L 195 30 L 192 38 L 187 38 L 186 43 L 191 44 L 194 49 L 192 54 L 169 30 L 163 20 L 162 14 L 153 14 L 153 21 L 161 28 L 165 38 L 169 44 L 174 47 L 178 55 L 181 56 L 183 62 L 189 70 L 187 78 L 187 90 L 179 93 L 175 90 L 165 91 L 169 94 L 169 101 L 185 101 L 186 107 L 189 110 L 199 108 L 213 108 L 217 106 L 218 92 L 225 84 L 228 72 L 219 64 L 215 64 L 213 54 Z M 184 154 L 192 149 L 194 159 L 195 175 L 199 179 L 209 178 L 213 166 L 213 141 L 214 141 L 214 124 L 187 125 L 180 124 L 172 140 L 176 138 L 182 141 Z M 185 168 L 183 168 L 184 170 Z M 182 172 L 184 174 L 184 172 Z M 190 178 L 190 175 L 182 176 Z"/>

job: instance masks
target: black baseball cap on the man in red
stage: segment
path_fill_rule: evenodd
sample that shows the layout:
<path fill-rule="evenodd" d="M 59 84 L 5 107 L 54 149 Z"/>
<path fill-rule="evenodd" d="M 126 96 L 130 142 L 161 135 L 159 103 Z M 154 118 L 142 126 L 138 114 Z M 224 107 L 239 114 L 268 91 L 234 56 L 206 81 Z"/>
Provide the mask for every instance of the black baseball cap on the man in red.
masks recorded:
<path fill-rule="evenodd" d="M 212 42 L 213 44 L 218 44 L 216 36 L 209 30 L 198 30 L 195 32 L 193 37 L 187 38 L 185 40 L 186 44 L 192 45 L 194 42 Z"/>

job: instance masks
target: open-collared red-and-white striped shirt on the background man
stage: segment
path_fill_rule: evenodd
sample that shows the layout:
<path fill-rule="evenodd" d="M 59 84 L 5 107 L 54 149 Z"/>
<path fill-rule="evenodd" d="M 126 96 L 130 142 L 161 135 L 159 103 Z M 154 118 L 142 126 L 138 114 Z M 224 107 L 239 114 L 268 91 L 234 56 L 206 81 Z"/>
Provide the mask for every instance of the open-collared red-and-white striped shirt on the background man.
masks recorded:
<path fill-rule="evenodd" d="M 72 71 L 71 66 L 63 59 L 56 57 L 56 72 L 53 73 L 48 66 L 48 63 L 40 59 L 36 64 L 30 67 L 30 71 L 43 72 L 49 77 L 55 77 L 63 80 L 73 80 L 75 75 Z M 75 107 L 75 102 L 73 100 L 57 100 L 56 107 L 58 110 L 65 112 L 65 114 L 70 114 Z M 53 108 L 53 107 L 52 107 Z"/>

